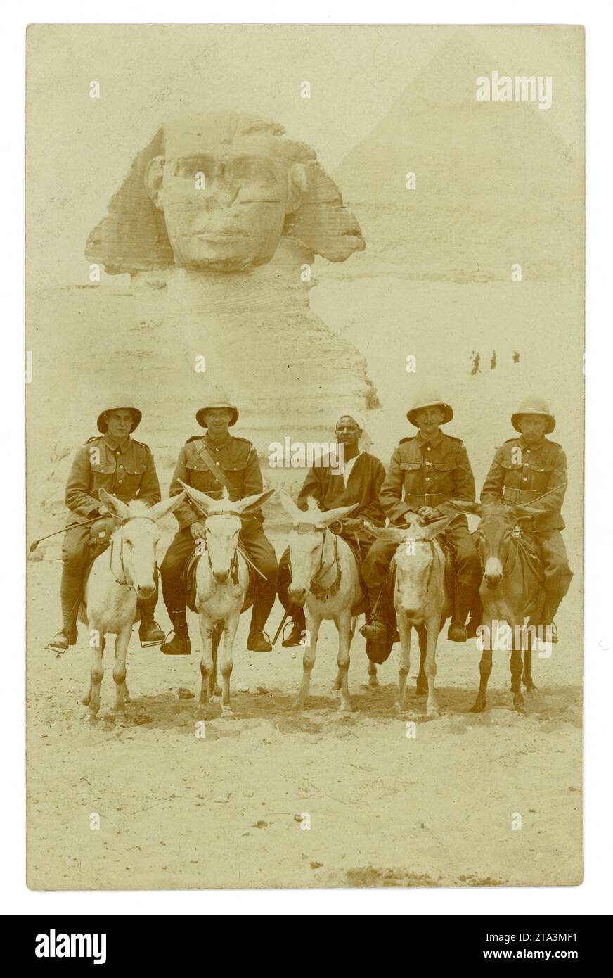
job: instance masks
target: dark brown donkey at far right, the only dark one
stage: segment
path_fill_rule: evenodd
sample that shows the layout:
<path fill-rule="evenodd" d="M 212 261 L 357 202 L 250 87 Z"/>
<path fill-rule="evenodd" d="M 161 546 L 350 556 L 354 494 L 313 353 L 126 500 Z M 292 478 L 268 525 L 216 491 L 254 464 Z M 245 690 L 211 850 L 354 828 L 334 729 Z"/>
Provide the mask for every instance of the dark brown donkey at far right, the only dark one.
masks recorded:
<path fill-rule="evenodd" d="M 483 568 L 479 588 L 483 625 L 477 632 L 480 633 L 483 653 L 479 664 L 479 691 L 470 712 L 482 713 L 487 706 L 486 693 L 492 672 L 492 638 L 498 635 L 498 623 L 505 621 L 513 637 L 510 656 L 513 708 L 517 713 L 525 713 L 521 681 L 523 679 L 527 692 L 535 689 L 531 667 L 532 638 L 537 634 L 544 593 L 543 574 L 535 568 L 534 558 L 523 544 L 518 527 L 522 520 L 531 519 L 542 510 L 499 502 L 467 504 L 453 500 L 452 503 L 463 512 L 480 516 L 476 545 Z"/>

